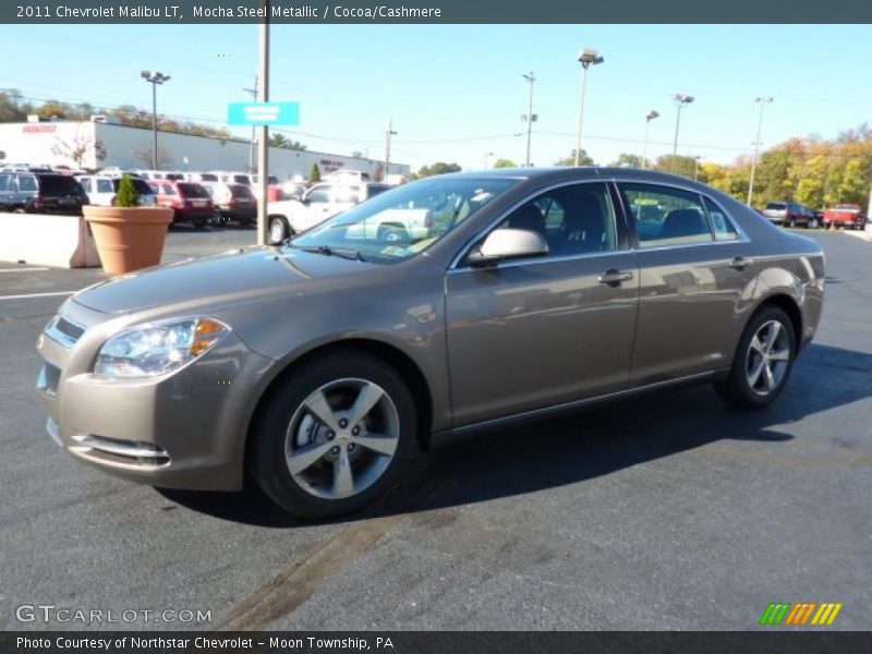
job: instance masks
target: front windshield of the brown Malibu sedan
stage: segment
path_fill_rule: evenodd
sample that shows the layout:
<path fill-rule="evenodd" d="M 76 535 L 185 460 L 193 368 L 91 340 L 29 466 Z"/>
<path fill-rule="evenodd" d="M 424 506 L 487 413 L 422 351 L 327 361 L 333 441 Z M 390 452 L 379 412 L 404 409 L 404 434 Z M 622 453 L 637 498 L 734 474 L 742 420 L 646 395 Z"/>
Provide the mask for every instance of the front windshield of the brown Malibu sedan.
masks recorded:
<path fill-rule="evenodd" d="M 509 186 L 512 179 L 429 179 L 399 186 L 311 229 L 293 247 L 353 252 L 396 264 L 429 247 Z"/>

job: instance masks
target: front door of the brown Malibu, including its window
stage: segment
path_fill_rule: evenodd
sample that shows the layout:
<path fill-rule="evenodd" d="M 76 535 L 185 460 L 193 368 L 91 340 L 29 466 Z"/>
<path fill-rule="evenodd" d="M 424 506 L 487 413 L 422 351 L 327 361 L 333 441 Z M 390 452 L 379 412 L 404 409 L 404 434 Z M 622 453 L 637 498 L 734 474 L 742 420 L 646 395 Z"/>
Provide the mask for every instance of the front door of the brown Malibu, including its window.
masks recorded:
<path fill-rule="evenodd" d="M 615 199 L 603 183 L 547 191 L 495 227 L 540 232 L 547 255 L 449 270 L 456 426 L 627 387 L 639 280 Z"/>

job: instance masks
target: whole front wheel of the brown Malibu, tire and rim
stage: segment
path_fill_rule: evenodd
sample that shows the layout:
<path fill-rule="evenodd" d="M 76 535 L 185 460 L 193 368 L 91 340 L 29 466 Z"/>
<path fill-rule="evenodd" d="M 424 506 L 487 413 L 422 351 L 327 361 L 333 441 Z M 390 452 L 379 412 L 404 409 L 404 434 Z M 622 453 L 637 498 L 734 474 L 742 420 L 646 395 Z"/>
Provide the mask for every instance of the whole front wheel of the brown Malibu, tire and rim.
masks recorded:
<path fill-rule="evenodd" d="M 375 403 L 350 424 L 363 398 Z M 416 450 L 416 424 L 414 401 L 397 371 L 371 354 L 338 350 L 304 363 L 270 391 L 255 416 L 249 467 L 289 513 L 349 513 L 390 488 Z"/>

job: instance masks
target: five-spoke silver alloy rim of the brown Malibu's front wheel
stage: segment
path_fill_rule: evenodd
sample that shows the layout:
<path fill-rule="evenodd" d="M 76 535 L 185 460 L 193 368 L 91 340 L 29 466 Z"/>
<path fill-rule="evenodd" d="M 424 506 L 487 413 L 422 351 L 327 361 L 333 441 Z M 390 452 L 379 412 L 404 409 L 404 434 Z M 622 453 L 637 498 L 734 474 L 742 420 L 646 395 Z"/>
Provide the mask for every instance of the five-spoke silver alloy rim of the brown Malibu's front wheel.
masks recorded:
<path fill-rule="evenodd" d="M 343 499 L 384 474 L 399 437 L 399 413 L 385 389 L 366 379 L 337 379 L 294 411 L 284 439 L 286 463 L 306 493 Z"/>

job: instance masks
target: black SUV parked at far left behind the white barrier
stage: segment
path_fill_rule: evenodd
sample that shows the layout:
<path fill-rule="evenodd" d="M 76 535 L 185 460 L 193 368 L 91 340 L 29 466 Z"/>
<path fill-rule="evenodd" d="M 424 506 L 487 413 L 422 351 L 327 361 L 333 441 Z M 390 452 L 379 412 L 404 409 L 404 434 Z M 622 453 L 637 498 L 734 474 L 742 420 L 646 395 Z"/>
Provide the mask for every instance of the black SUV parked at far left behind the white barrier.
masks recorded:
<path fill-rule="evenodd" d="M 81 216 L 88 196 L 65 174 L 0 172 L 0 211 Z"/>

